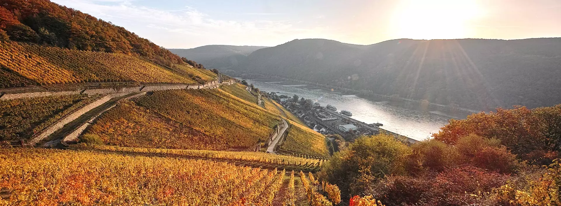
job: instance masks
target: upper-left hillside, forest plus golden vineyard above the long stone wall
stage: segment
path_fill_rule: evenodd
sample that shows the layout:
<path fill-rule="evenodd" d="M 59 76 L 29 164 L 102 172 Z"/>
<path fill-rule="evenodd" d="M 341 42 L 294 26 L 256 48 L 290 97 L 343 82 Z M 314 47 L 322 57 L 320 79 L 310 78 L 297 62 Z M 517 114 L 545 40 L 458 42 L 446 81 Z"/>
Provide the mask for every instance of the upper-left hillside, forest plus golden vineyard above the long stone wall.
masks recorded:
<path fill-rule="evenodd" d="M 0 1 L 0 88 L 215 77 L 123 27 L 47 0 Z"/>

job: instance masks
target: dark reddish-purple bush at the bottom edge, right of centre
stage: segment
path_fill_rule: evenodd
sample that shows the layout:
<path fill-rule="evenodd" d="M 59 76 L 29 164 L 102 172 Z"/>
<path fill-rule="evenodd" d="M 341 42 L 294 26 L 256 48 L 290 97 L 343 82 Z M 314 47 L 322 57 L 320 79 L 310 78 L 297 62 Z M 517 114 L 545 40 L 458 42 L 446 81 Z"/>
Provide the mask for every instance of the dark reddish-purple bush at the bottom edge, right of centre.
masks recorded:
<path fill-rule="evenodd" d="M 494 205 L 491 191 L 508 175 L 473 166 L 448 168 L 419 177 L 390 176 L 364 191 L 390 205 Z"/>

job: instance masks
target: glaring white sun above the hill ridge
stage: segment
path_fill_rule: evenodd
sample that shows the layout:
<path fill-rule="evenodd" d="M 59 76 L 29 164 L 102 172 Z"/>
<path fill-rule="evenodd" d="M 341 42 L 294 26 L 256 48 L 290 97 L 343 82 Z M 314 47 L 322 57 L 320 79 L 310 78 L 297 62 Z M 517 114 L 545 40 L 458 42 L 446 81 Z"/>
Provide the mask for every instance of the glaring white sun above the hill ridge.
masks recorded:
<path fill-rule="evenodd" d="M 473 33 L 470 21 L 481 15 L 474 0 L 403 0 L 390 27 L 396 38 L 468 38 Z"/>

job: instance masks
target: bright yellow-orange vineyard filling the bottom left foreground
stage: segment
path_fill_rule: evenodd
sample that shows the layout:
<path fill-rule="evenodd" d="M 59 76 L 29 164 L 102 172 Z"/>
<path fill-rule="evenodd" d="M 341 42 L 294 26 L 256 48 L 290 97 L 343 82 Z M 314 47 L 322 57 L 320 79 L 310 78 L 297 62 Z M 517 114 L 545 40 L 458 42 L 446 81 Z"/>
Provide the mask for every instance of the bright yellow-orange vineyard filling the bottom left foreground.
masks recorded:
<path fill-rule="evenodd" d="M 52 149 L 0 149 L 0 205 L 271 205 L 284 171 Z M 32 163 L 31 163 L 32 162 Z"/>

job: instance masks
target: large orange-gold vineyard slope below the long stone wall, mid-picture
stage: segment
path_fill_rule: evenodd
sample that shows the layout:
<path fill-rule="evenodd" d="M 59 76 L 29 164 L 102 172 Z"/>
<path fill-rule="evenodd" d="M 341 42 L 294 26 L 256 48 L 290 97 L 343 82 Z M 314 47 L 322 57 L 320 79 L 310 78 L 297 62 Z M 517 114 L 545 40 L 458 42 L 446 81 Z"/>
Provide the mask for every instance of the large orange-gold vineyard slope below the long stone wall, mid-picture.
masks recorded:
<path fill-rule="evenodd" d="M 156 91 L 119 105 L 88 133 L 105 143 L 145 148 L 248 149 L 268 139 L 280 118 L 219 90 Z"/>

